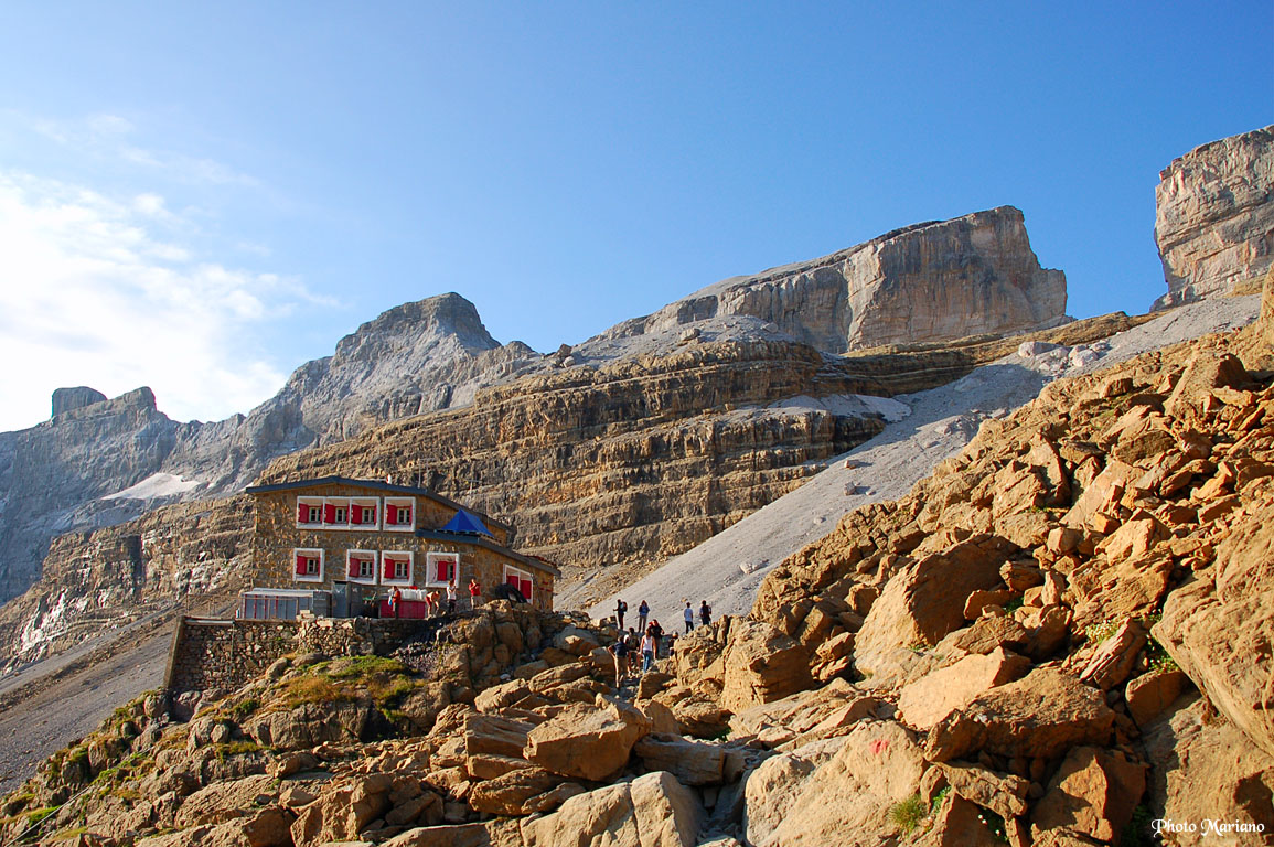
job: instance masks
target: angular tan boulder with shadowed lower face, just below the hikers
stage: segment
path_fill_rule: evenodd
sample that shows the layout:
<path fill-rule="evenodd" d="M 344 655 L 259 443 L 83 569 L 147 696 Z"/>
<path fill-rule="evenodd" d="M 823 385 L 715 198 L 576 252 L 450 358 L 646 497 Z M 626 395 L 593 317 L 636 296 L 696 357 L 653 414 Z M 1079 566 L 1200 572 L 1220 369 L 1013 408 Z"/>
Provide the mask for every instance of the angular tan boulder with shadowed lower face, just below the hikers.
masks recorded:
<path fill-rule="evenodd" d="M 618 773 L 650 721 L 631 706 L 598 697 L 571 703 L 526 736 L 524 758 L 566 777 L 600 781 Z"/>

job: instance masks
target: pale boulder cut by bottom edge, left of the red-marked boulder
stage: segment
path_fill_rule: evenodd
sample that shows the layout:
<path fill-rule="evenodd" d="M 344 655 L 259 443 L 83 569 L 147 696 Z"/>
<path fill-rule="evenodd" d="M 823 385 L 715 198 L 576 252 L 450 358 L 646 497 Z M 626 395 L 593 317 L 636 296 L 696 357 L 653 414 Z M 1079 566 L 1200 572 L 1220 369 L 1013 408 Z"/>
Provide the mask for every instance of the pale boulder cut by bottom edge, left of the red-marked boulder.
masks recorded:
<path fill-rule="evenodd" d="M 702 810 L 665 772 L 569 797 L 548 815 L 521 824 L 525 847 L 693 847 Z"/>

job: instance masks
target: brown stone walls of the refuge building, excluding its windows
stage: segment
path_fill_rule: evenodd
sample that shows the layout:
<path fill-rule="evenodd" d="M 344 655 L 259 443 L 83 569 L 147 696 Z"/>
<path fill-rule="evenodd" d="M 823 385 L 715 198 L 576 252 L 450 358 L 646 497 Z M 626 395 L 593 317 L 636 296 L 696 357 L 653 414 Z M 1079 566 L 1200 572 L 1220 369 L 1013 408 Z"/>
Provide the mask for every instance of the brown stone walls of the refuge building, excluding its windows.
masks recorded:
<path fill-rule="evenodd" d="M 531 557 L 524 557 L 505 546 L 513 537 L 513 530 L 485 515 L 478 517 L 492 531 L 492 537 L 447 532 L 443 527 L 461 508 L 427 489 L 380 484 L 369 480 L 327 478 L 306 484 L 261 485 L 248 489 L 256 498 L 256 518 L 252 535 L 252 580 L 256 587 L 327 590 L 334 585 L 350 582 L 363 595 L 387 595 L 392 585 L 399 587 L 427 587 L 428 555 L 451 553 L 459 555 L 456 585 L 468 602 L 469 581 L 476 578 L 484 599 L 498 585 L 506 582 L 511 569 L 526 574 L 531 582 L 530 602 L 536 609 L 552 610 L 557 568 Z M 386 498 L 410 502 L 415 530 L 359 530 L 326 529 L 301 525 L 297 520 L 298 499 L 320 498 L 378 498 L 383 508 Z M 468 509 L 466 509 L 468 511 Z M 474 512 L 471 512 L 474 513 Z M 321 550 L 322 567 L 317 574 L 298 576 L 294 568 L 297 550 Z M 391 583 L 383 578 L 377 555 L 376 576 L 367 582 L 348 580 L 350 552 L 410 553 L 412 580 Z M 437 586 L 437 583 L 433 583 Z"/>

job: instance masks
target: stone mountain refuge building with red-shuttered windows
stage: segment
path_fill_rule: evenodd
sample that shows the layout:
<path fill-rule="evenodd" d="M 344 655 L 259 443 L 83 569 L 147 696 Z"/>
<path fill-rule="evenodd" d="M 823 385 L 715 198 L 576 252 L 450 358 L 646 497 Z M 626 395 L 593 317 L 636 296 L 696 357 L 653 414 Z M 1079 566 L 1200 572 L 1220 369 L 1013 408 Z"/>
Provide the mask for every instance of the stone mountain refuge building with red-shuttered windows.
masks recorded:
<path fill-rule="evenodd" d="M 242 595 L 241 618 L 387 615 L 395 587 L 399 616 L 422 618 L 424 594 L 445 599 L 452 577 L 461 609 L 471 578 L 484 601 L 510 586 L 536 609 L 553 609 L 561 571 L 516 553 L 513 527 L 427 488 L 324 476 L 247 493 L 256 499 L 254 587 Z"/>

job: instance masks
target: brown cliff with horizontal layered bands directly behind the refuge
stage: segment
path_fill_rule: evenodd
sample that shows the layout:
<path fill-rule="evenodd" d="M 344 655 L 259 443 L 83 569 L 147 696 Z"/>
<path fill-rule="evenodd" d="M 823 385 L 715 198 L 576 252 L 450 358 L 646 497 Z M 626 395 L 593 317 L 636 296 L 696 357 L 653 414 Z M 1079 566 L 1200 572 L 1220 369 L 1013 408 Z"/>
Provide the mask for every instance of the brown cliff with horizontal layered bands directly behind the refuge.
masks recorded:
<path fill-rule="evenodd" d="M 771 404 L 866 387 L 804 345 L 691 344 L 493 387 L 461 410 L 282 457 L 262 481 L 390 474 L 513 518 L 522 549 L 561 563 L 654 562 L 880 428 L 865 406 Z"/>

